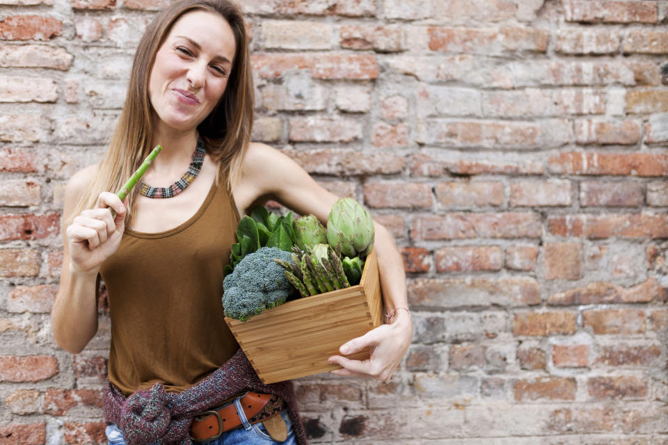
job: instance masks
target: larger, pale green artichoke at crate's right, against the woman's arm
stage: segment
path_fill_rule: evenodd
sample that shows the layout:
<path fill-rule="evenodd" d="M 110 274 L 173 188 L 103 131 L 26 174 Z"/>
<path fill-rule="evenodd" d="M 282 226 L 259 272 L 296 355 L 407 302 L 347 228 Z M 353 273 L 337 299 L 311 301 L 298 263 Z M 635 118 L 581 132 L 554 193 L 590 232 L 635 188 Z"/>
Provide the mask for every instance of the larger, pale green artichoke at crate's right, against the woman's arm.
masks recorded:
<path fill-rule="evenodd" d="M 374 247 L 374 220 L 350 197 L 337 200 L 327 218 L 327 243 L 342 257 L 366 257 Z"/>

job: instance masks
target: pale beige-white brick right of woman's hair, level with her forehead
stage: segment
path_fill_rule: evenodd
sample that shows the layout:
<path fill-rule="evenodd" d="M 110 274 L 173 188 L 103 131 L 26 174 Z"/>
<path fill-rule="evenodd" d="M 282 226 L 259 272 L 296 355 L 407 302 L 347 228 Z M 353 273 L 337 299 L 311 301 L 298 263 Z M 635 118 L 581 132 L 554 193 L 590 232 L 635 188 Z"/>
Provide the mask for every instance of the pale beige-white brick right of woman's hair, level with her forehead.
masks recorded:
<path fill-rule="evenodd" d="M 267 49 L 330 49 L 333 30 L 329 24 L 304 21 L 262 22 L 260 38 Z"/>

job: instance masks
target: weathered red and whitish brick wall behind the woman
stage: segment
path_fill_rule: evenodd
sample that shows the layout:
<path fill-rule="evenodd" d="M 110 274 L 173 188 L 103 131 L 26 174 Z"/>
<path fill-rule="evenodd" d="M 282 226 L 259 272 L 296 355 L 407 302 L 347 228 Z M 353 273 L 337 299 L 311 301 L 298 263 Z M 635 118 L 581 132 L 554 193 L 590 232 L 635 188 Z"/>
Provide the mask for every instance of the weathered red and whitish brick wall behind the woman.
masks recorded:
<path fill-rule="evenodd" d="M 63 184 L 161 0 L 0 0 L 0 444 L 104 443 L 59 350 Z M 390 227 L 413 345 L 297 382 L 313 443 L 668 444 L 668 1 L 246 0 L 255 139 Z M 663 68 L 663 70 L 662 70 Z"/>

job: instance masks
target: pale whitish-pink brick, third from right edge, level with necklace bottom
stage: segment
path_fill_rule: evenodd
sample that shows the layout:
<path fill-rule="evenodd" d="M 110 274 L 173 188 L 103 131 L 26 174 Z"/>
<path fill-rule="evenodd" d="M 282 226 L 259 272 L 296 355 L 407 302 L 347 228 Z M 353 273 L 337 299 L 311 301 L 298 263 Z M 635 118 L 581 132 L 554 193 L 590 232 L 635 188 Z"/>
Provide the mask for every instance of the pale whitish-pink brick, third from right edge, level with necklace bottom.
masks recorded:
<path fill-rule="evenodd" d="M 510 184 L 510 205 L 569 206 L 573 201 L 573 184 L 568 179 L 546 179 L 545 181 L 516 181 Z"/>

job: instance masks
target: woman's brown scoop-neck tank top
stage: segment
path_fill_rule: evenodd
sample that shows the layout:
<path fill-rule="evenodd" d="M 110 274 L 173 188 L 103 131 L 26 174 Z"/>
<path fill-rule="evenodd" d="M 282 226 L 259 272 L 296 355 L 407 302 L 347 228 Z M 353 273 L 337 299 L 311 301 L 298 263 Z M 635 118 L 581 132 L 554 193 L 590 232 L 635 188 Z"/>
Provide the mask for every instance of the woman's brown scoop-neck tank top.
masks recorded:
<path fill-rule="evenodd" d="M 109 380 L 127 396 L 161 382 L 179 391 L 239 348 L 223 320 L 223 267 L 239 213 L 221 180 L 182 225 L 126 229 L 100 271 L 109 292 Z"/>

